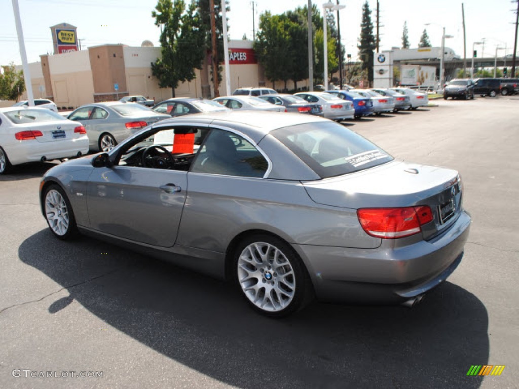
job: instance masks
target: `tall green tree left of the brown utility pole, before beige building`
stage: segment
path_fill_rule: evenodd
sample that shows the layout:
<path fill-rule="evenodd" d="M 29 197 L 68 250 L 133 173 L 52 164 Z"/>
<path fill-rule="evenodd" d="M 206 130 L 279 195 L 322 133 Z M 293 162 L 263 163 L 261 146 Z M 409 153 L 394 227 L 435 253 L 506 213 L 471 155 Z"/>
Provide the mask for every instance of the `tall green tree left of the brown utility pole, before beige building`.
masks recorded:
<path fill-rule="evenodd" d="M 196 77 L 195 68 L 202 68 L 205 31 L 200 29 L 200 16 L 196 4 L 186 8 L 183 0 L 159 0 L 152 11 L 155 25 L 160 26 L 161 58 L 152 62 L 152 74 L 161 88 L 175 88 L 179 82 Z"/>

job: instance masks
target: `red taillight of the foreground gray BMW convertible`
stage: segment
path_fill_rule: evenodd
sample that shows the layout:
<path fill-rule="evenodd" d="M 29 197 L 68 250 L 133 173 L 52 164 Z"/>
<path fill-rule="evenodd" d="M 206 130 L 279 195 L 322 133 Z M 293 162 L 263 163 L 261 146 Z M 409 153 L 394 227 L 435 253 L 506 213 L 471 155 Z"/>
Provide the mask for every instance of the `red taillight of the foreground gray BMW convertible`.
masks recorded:
<path fill-rule="evenodd" d="M 417 234 L 420 226 L 432 221 L 427 205 L 402 208 L 364 208 L 357 211 L 360 224 L 368 235 L 382 239 L 397 239 Z"/>

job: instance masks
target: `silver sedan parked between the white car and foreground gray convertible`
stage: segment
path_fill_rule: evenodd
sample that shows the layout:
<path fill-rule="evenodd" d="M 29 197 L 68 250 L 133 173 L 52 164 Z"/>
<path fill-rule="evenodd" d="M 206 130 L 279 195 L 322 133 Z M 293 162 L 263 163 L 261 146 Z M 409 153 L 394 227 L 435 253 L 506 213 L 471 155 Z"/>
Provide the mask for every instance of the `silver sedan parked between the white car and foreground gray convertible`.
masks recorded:
<path fill-rule="evenodd" d="M 140 104 L 113 102 L 80 106 L 67 118 L 86 128 L 90 150 L 109 151 L 148 124 L 170 117 Z"/>

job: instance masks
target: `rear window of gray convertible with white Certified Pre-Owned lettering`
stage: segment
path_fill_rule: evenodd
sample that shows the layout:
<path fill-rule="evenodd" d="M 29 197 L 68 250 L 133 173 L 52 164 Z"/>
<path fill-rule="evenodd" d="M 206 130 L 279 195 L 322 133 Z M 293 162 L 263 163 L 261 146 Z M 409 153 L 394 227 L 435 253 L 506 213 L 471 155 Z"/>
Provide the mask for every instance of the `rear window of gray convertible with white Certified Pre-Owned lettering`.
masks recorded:
<path fill-rule="evenodd" d="M 384 150 L 335 122 L 298 124 L 270 134 L 321 178 L 358 172 L 393 160 Z"/>

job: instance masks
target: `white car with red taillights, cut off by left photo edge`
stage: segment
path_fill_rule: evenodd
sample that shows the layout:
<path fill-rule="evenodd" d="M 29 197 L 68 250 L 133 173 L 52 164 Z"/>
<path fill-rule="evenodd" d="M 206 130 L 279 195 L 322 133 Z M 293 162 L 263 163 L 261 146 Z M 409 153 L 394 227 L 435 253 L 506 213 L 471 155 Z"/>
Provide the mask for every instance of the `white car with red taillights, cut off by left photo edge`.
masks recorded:
<path fill-rule="evenodd" d="M 0 174 L 12 165 L 78 157 L 87 152 L 87 131 L 80 123 L 46 108 L 0 108 Z"/>

